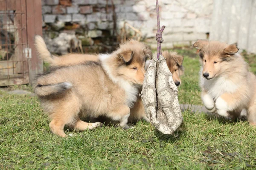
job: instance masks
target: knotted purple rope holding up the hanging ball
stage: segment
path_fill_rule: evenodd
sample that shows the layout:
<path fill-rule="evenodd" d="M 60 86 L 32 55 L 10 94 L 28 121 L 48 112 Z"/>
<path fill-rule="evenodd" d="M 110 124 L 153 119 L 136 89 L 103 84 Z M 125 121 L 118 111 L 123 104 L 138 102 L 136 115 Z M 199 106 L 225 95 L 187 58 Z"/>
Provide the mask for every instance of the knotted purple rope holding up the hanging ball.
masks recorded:
<path fill-rule="evenodd" d="M 157 34 L 156 34 L 156 40 L 157 40 L 157 59 L 159 59 L 159 55 L 162 54 L 162 52 L 161 52 L 161 43 L 163 42 L 162 32 L 163 32 L 165 26 L 162 26 L 162 28 L 160 30 L 158 0 L 156 0 L 156 4 L 157 4 Z"/>

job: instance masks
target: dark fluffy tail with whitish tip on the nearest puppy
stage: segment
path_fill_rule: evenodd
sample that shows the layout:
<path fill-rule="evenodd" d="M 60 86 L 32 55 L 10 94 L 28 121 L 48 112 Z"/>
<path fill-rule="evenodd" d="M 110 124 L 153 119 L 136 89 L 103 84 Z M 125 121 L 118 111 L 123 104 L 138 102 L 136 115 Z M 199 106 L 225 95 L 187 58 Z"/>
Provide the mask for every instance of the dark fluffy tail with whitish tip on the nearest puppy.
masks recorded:
<path fill-rule="evenodd" d="M 61 82 L 50 85 L 38 84 L 35 86 L 35 94 L 38 95 L 38 97 L 56 96 L 63 94 L 70 88 L 72 88 L 72 84 L 70 82 Z"/>

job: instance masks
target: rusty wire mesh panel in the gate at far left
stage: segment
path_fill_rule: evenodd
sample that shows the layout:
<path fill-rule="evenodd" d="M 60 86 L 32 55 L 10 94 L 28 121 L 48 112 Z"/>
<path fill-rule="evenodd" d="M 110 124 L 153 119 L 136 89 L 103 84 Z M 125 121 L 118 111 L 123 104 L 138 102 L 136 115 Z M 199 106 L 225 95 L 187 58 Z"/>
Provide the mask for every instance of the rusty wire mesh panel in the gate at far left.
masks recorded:
<path fill-rule="evenodd" d="M 0 85 L 23 84 L 16 80 L 28 78 L 26 38 L 26 8 L 21 0 L 0 0 Z"/>

